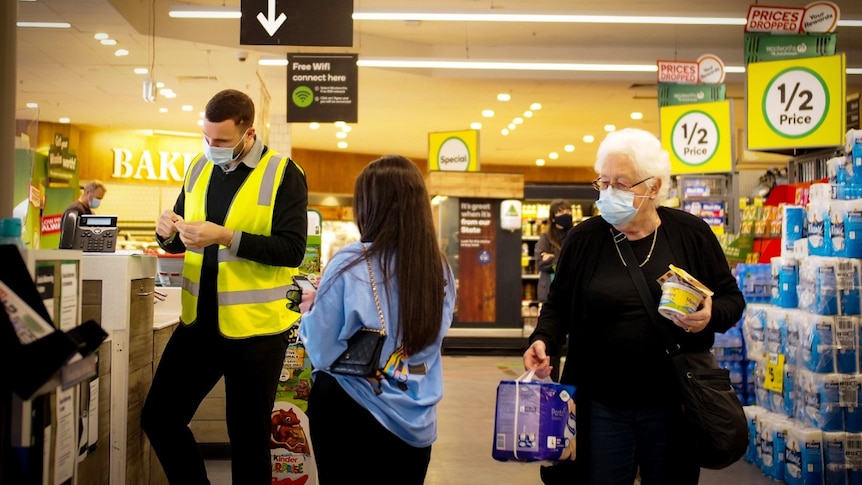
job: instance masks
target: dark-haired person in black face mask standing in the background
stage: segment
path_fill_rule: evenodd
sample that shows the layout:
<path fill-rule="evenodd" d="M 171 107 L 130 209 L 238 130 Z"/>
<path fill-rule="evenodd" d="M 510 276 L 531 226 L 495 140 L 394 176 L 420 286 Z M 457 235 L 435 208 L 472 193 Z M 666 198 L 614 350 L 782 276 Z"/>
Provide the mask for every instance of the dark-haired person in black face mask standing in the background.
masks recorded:
<path fill-rule="evenodd" d="M 542 233 L 542 237 L 536 243 L 534 250 L 536 258 L 536 269 L 539 271 L 538 297 L 540 303 L 548 301 L 548 291 L 557 268 L 557 258 L 560 256 L 560 247 L 563 239 L 572 228 L 572 203 L 556 199 L 551 201 L 548 210 L 548 229 Z M 551 356 L 551 379 L 560 379 L 560 355 Z"/>

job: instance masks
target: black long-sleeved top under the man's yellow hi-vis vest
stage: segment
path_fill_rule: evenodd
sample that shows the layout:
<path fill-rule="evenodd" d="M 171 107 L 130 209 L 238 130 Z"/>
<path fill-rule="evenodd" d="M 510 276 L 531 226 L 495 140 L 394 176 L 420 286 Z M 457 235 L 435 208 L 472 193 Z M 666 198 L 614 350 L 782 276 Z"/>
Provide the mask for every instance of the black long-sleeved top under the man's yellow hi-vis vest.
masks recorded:
<path fill-rule="evenodd" d="M 261 157 L 266 154 L 267 150 L 264 147 Z M 252 170 L 254 168 L 244 163 L 238 164 L 230 172 L 213 167 L 212 176 L 207 186 L 207 221 L 224 225 L 234 196 Z M 185 199 L 185 186 L 183 186 L 173 209 L 181 217 L 185 213 Z M 305 175 L 296 163 L 293 160 L 288 160 L 281 185 L 275 194 L 272 236 L 243 232 L 236 255 L 271 266 L 299 267 L 305 258 L 307 231 L 308 185 Z M 169 253 L 181 253 L 186 249 L 179 237 L 174 237 L 166 243 L 162 242 L 158 235 L 156 237 L 158 237 L 162 248 Z M 217 321 L 218 247 L 218 244 L 213 244 L 204 249 L 198 297 L 199 320 Z"/>

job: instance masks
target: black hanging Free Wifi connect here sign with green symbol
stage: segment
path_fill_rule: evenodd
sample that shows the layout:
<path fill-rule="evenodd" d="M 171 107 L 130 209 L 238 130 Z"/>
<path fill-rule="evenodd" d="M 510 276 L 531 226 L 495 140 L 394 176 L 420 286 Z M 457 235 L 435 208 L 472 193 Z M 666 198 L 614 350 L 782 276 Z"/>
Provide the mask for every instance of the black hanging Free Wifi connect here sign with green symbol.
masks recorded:
<path fill-rule="evenodd" d="M 356 54 L 288 54 L 287 121 L 356 123 Z"/>

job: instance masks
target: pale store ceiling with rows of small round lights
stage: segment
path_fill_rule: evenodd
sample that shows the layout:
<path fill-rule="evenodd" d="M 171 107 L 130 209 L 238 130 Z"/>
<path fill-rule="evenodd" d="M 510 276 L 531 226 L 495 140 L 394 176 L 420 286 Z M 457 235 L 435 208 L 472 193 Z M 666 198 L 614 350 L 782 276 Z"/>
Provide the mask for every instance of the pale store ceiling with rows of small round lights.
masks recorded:
<path fill-rule="evenodd" d="M 284 0 L 280 0 L 284 1 Z M 833 0 L 842 19 L 862 20 L 862 1 Z M 197 132 L 198 113 L 225 88 L 271 95 L 271 119 L 286 113 L 286 67 L 258 65 L 282 57 L 288 48 L 239 44 L 239 20 L 186 20 L 168 16 L 175 3 L 232 5 L 239 0 L 36 0 L 18 2 L 18 20 L 65 21 L 71 29 L 18 28 L 17 109 L 19 118 L 56 122 L 69 117 L 83 129 L 157 129 Z M 743 18 L 746 0 L 354 0 L 355 11 L 468 11 L 613 15 L 718 16 Z M 803 6 L 805 0 L 773 2 Z M 154 13 L 154 15 L 152 14 Z M 93 38 L 108 33 L 117 46 Z M 839 29 L 838 50 L 849 67 L 862 67 L 862 28 Z M 126 57 L 115 57 L 117 48 Z M 238 51 L 247 51 L 245 62 Z M 290 48 L 290 52 L 350 52 L 360 58 L 444 58 L 533 62 L 655 64 L 656 60 L 696 60 L 718 55 L 726 65 L 743 64 L 742 27 L 492 24 L 466 22 L 354 21 L 353 48 Z M 135 67 L 154 65 L 157 81 L 177 93 L 150 104 L 142 99 L 145 76 Z M 605 124 L 636 126 L 658 133 L 655 74 L 550 73 L 359 69 L 359 121 L 348 134 L 348 152 L 400 153 L 427 157 L 429 132 L 468 129 L 479 121 L 483 163 L 592 166 Z M 729 74 L 736 128 L 744 128 L 744 75 Z M 848 77 L 848 92 L 862 91 L 862 75 Z M 497 93 L 511 101 L 496 100 Z M 38 111 L 25 104 L 36 102 Z M 531 103 L 542 104 L 510 135 L 500 130 Z M 181 105 L 190 104 L 191 112 Z M 167 108 L 160 113 L 159 108 Z M 482 118 L 483 109 L 493 118 Z M 644 113 L 633 121 L 632 111 Z M 295 148 L 336 151 L 331 124 L 311 130 L 292 125 Z M 575 145 L 573 153 L 563 151 Z M 549 152 L 560 158 L 551 160 Z"/>

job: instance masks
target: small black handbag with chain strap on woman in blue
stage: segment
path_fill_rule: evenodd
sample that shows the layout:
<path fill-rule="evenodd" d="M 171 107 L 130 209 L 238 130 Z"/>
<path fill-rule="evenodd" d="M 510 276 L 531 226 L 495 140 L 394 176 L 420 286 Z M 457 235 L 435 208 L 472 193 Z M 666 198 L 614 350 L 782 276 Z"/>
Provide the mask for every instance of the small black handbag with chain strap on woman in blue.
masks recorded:
<path fill-rule="evenodd" d="M 383 321 L 383 311 L 380 309 L 380 298 L 377 296 L 377 285 L 374 283 L 374 272 L 371 270 L 371 259 L 368 250 L 362 244 L 365 252 L 365 262 L 368 264 L 368 276 L 371 278 L 371 291 L 374 292 L 374 304 L 377 305 L 377 315 L 382 329 L 363 327 L 354 333 L 347 341 L 347 350 L 332 363 L 330 372 L 355 377 L 374 377 L 380 363 L 383 342 L 386 340 L 386 324 Z"/>

